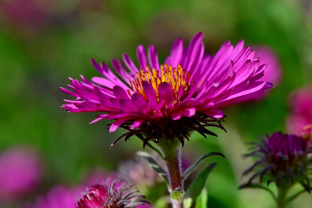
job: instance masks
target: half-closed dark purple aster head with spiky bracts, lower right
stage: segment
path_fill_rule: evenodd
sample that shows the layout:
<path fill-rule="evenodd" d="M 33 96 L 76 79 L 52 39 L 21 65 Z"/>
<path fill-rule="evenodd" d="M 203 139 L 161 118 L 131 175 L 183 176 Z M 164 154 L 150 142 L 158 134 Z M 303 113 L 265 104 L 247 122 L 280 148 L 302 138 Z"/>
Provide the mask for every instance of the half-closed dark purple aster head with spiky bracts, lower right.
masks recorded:
<path fill-rule="evenodd" d="M 251 183 L 256 177 L 267 177 L 267 183 L 277 186 L 285 183 L 299 182 L 308 191 L 312 182 L 311 146 L 307 140 L 296 134 L 275 132 L 253 143 L 254 151 L 245 157 L 255 156 L 258 160 L 243 175 L 254 172 Z"/>

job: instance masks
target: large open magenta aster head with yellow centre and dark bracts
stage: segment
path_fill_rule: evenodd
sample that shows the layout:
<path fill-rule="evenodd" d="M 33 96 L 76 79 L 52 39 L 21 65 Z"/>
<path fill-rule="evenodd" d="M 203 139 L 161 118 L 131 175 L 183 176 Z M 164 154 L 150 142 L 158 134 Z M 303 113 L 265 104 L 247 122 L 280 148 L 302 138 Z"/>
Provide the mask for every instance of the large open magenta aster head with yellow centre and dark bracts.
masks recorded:
<path fill-rule="evenodd" d="M 173 44 L 170 55 L 159 64 L 154 45 L 146 53 L 137 47 L 138 67 L 129 56 L 112 60 L 117 75 L 105 64 L 91 59 L 102 75 L 89 81 L 72 79 L 64 93 L 76 97 L 63 104 L 69 112 L 99 112 L 98 119 L 115 120 L 109 128 L 118 127 L 154 139 L 177 137 L 182 145 L 189 132 L 215 135 L 205 126 L 218 126 L 225 114 L 221 107 L 251 99 L 272 87 L 258 81 L 265 65 L 259 65 L 243 40 L 233 46 L 225 42 L 215 56 L 204 55 L 203 34 L 197 33 L 187 48 L 182 39 Z M 136 131 L 134 131 L 136 130 Z M 126 135 L 126 134 L 124 134 Z M 120 137 L 121 138 L 121 137 Z"/>

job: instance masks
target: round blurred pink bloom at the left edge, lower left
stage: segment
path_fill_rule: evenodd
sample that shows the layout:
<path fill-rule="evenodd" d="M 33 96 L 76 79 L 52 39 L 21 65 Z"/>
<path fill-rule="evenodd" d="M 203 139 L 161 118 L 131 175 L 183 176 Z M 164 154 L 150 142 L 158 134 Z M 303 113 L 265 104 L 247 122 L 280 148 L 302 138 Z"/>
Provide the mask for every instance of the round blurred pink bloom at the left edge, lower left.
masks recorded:
<path fill-rule="evenodd" d="M 17 146 L 0 154 L 0 199 L 15 199 L 36 188 L 42 162 L 34 149 Z"/>

